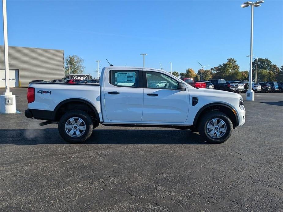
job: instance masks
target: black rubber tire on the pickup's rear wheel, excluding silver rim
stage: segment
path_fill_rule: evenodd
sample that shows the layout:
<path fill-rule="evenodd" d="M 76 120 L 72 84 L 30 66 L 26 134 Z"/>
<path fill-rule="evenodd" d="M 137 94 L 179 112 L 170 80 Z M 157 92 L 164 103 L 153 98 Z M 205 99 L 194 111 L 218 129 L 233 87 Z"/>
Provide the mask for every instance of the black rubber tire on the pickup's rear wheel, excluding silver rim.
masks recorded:
<path fill-rule="evenodd" d="M 68 133 L 65 130 L 66 122 L 73 117 L 80 118 L 85 123 L 85 131 L 80 137 L 71 137 L 68 135 Z M 92 122 L 90 115 L 88 115 L 88 113 L 81 111 L 81 110 L 71 110 L 71 111 L 66 112 L 61 117 L 59 124 L 58 124 L 58 130 L 59 130 L 61 137 L 65 141 L 69 143 L 73 143 L 73 144 L 81 143 L 81 142 L 88 140 L 88 138 L 91 136 L 92 130 L 93 130 L 93 122 Z"/>

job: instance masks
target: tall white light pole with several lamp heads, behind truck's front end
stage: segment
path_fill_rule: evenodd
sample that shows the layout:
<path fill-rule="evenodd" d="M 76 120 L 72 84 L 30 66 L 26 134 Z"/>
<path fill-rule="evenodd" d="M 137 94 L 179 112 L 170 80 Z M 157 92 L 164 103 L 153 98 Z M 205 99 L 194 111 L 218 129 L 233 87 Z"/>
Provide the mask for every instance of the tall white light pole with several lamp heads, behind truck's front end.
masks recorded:
<path fill-rule="evenodd" d="M 251 45 L 250 45 L 250 89 L 247 91 L 247 100 L 255 101 L 255 92 L 251 90 L 251 70 L 252 70 L 252 45 L 253 45 L 253 28 L 254 28 L 254 7 L 259 7 L 260 3 L 264 1 L 256 1 L 256 2 L 244 2 L 241 7 L 249 7 L 251 6 Z"/>

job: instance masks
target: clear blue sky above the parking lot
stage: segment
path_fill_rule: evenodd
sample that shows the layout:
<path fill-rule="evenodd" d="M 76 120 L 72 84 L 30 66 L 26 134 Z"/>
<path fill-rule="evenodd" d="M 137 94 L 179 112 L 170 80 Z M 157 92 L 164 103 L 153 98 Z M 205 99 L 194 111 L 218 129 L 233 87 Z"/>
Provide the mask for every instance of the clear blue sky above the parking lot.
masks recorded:
<path fill-rule="evenodd" d="M 85 73 L 110 63 L 184 72 L 196 60 L 212 68 L 233 57 L 248 70 L 250 8 L 236 1 L 11 1 L 8 43 L 63 49 L 84 59 Z M 2 8 L 2 1 L 1 1 Z M 254 55 L 283 65 L 283 1 L 254 11 Z M 1 9 L 0 44 L 3 45 Z M 44 68 L 44 67 L 43 67 Z M 94 73 L 91 73 L 95 75 Z"/>

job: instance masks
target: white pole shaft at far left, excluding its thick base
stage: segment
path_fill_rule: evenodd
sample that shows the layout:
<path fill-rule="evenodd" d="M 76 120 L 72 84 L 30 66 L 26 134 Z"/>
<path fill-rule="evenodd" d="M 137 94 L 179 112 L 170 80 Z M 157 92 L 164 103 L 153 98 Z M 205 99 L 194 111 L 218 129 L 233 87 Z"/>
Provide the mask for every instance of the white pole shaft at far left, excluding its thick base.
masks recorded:
<path fill-rule="evenodd" d="M 4 95 L 12 95 L 12 93 L 10 93 L 10 85 L 9 85 L 9 56 L 8 56 L 8 30 L 7 30 L 6 0 L 2 0 L 2 2 L 3 2 L 5 86 L 6 86 L 6 91 L 5 91 Z"/>

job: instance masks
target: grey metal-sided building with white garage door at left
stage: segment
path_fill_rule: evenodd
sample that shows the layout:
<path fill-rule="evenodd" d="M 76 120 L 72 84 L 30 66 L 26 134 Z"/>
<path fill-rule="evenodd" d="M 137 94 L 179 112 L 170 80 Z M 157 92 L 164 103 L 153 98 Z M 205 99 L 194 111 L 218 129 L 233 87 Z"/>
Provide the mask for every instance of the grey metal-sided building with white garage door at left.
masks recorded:
<path fill-rule="evenodd" d="M 64 77 L 63 50 L 9 46 L 8 53 L 10 87 Z M 0 87 L 5 87 L 4 46 L 0 46 Z"/>

